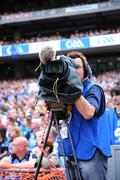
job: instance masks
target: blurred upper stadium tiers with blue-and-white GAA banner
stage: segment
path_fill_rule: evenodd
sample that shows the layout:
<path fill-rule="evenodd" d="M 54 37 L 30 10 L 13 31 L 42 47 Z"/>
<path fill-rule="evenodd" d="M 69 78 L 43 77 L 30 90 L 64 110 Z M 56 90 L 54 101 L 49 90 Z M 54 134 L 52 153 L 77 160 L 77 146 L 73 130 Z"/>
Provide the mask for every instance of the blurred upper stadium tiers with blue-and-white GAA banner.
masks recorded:
<path fill-rule="evenodd" d="M 0 79 L 38 77 L 38 51 L 78 49 L 95 76 L 120 69 L 120 0 L 0 1 Z"/>

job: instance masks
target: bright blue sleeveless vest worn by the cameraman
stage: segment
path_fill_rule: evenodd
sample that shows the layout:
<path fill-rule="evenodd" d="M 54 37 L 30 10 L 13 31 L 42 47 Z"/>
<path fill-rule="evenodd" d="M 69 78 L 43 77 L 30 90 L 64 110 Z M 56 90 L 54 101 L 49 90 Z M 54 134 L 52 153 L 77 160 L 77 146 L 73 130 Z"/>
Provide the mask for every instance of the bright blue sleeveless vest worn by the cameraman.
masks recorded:
<path fill-rule="evenodd" d="M 94 85 L 94 83 L 87 82 L 87 86 L 83 90 L 84 97 L 86 97 L 88 91 Z M 101 89 L 103 95 L 100 115 L 93 117 L 90 120 L 85 120 L 74 107 L 71 120 L 68 123 L 76 157 L 81 160 L 92 158 L 97 148 L 99 148 L 105 156 L 111 156 L 109 124 L 105 110 L 104 92 L 100 86 L 98 87 Z M 72 156 L 72 148 L 69 138 L 63 139 L 63 145 L 66 156 Z"/>

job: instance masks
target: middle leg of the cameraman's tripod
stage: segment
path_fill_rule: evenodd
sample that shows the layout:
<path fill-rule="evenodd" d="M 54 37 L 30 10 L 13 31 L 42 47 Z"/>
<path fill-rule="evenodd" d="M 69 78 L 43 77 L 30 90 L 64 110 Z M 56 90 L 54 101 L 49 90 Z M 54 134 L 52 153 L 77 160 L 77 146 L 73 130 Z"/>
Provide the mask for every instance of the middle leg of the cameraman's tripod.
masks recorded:
<path fill-rule="evenodd" d="M 55 120 L 55 124 L 56 124 L 56 128 L 57 128 L 57 132 L 58 132 L 58 135 L 59 135 L 59 138 L 60 138 L 60 145 L 61 145 L 62 154 L 63 154 L 63 158 L 64 158 L 64 164 L 65 164 L 65 173 L 66 173 L 66 176 L 67 176 L 68 180 L 73 180 L 73 177 L 72 177 L 72 174 L 71 174 L 71 171 L 70 171 L 69 163 L 66 160 L 64 146 L 63 146 L 63 143 L 62 143 L 62 137 L 61 137 L 60 130 L 59 130 L 59 123 L 58 123 L 57 117 L 55 115 L 55 112 L 54 112 L 54 120 Z"/>

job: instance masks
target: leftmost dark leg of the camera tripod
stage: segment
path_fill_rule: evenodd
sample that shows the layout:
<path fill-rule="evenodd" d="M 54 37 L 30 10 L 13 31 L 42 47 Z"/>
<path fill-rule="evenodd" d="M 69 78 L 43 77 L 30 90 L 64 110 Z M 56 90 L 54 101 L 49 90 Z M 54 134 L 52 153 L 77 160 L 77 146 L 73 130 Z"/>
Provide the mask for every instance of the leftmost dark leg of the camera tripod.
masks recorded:
<path fill-rule="evenodd" d="M 45 149 L 46 144 L 47 144 L 47 141 L 48 141 L 50 129 L 51 129 L 51 126 L 52 126 L 52 121 L 53 121 L 53 114 L 52 114 L 52 117 L 51 117 L 50 122 L 49 122 L 49 125 L 48 125 L 48 130 L 47 130 L 47 134 L 46 134 L 46 137 L 45 137 L 43 149 Z M 35 178 L 34 178 L 34 180 L 37 180 L 37 177 L 38 177 L 38 174 L 39 174 L 39 171 L 40 171 L 40 167 L 41 167 L 41 162 L 42 162 L 42 159 L 43 159 L 43 155 L 44 155 L 44 154 L 43 154 L 43 151 L 42 151 L 42 152 L 41 152 L 41 155 L 40 155 L 40 158 L 39 158 L 39 161 L 38 161 L 38 164 L 37 164 L 37 170 L 36 170 L 36 173 L 35 173 Z"/>

